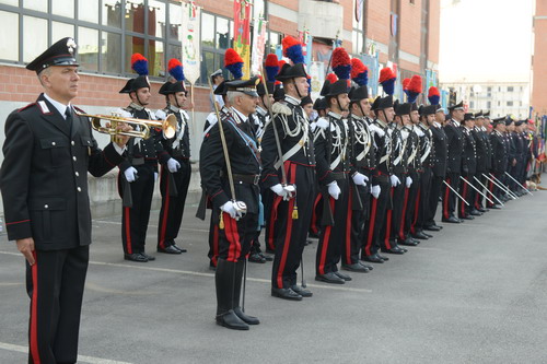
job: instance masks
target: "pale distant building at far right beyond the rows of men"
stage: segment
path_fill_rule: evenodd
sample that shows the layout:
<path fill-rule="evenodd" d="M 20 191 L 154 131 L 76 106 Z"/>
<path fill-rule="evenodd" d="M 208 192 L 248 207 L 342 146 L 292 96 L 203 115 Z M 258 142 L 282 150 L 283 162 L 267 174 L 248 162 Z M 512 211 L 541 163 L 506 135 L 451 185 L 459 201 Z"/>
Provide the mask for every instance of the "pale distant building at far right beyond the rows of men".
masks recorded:
<path fill-rule="evenodd" d="M 529 114 L 529 82 L 445 82 L 443 90 L 456 92 L 473 113 L 490 110 L 491 117 L 514 115 L 524 119 Z"/>

